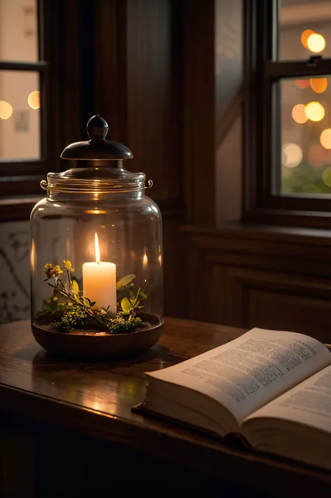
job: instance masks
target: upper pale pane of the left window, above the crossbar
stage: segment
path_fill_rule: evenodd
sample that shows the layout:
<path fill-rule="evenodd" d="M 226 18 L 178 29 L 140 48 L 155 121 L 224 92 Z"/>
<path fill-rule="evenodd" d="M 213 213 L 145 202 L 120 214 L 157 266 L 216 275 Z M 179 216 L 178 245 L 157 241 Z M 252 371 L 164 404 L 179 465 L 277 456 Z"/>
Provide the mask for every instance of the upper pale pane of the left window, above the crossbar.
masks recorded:
<path fill-rule="evenodd" d="M 38 60 L 37 0 L 0 0 L 0 60 Z"/>

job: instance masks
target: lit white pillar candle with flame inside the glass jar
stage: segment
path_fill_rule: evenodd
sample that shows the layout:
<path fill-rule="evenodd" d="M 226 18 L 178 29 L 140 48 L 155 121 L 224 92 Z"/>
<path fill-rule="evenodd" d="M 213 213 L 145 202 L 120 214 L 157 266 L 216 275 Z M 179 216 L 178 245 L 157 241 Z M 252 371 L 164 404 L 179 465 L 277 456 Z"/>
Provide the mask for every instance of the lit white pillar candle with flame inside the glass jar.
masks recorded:
<path fill-rule="evenodd" d="M 95 236 L 96 262 L 82 266 L 84 297 L 96 301 L 96 308 L 117 312 L 116 264 L 103 262 L 100 257 L 98 235 Z"/>

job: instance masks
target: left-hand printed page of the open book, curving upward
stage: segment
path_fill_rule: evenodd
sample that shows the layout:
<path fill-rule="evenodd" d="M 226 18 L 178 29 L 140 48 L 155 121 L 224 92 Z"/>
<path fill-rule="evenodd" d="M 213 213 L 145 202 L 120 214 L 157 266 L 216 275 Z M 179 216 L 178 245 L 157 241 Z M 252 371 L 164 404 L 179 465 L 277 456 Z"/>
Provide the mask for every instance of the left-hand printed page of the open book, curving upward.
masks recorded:
<path fill-rule="evenodd" d="M 219 348 L 148 375 L 216 399 L 241 423 L 330 363 L 328 349 L 309 336 L 252 329 Z"/>

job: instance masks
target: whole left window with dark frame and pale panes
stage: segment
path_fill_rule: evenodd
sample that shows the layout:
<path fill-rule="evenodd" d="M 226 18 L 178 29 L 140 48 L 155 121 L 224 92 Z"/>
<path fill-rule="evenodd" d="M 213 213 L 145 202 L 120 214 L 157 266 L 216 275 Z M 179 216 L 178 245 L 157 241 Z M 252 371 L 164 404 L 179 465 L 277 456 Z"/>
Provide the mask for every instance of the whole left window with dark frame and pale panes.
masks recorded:
<path fill-rule="evenodd" d="M 54 5 L 0 0 L 1 219 L 22 218 L 22 206 L 29 213 L 42 197 L 40 180 L 50 171 L 56 116 L 48 41 Z"/>

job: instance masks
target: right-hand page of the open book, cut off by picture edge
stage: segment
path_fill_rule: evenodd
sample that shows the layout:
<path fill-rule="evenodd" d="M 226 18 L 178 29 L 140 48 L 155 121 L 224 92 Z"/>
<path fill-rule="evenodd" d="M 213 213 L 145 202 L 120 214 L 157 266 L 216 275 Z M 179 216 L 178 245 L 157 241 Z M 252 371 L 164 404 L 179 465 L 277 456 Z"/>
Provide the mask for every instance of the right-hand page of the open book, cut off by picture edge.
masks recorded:
<path fill-rule="evenodd" d="M 331 433 L 331 366 L 263 406 L 253 418 L 281 418 Z"/>

